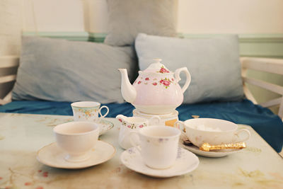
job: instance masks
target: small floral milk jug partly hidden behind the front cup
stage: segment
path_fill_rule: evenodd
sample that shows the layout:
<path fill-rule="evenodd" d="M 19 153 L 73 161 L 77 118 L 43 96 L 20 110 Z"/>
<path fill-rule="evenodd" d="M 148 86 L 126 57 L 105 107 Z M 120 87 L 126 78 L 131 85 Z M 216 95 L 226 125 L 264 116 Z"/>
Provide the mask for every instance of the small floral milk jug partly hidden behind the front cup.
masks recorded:
<path fill-rule="evenodd" d="M 133 147 L 129 142 L 129 133 L 133 130 L 139 130 L 148 125 L 160 125 L 161 118 L 155 115 L 150 119 L 137 118 L 137 117 L 126 117 L 124 115 L 117 115 L 117 120 L 121 122 L 118 143 L 123 149 L 129 149 Z M 136 139 L 137 140 L 137 139 Z"/>

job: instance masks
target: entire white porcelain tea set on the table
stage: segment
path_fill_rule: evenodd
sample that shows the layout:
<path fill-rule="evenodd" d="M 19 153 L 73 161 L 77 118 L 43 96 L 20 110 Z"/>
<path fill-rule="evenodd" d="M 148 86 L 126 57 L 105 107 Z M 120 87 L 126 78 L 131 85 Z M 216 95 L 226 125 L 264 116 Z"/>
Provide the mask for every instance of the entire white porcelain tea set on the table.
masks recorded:
<path fill-rule="evenodd" d="M 200 161 L 195 154 L 226 156 L 241 150 L 235 143 L 250 137 L 248 130 L 238 130 L 238 125 L 226 120 L 178 120 L 175 108 L 183 103 L 183 93 L 191 81 L 186 67 L 173 72 L 161 64 L 161 59 L 154 59 L 147 69 L 139 71 L 134 84 L 129 82 L 127 69 L 119 71 L 122 96 L 136 108 L 133 117 L 116 116 L 120 123 L 117 142 L 125 149 L 120 160 L 127 168 L 153 177 L 180 176 L 197 168 Z M 178 84 L 181 72 L 186 76 L 183 87 Z M 111 159 L 115 147 L 98 140 L 100 134 L 114 127 L 112 122 L 103 119 L 109 108 L 91 101 L 71 103 L 71 108 L 74 122 L 55 126 L 56 142 L 40 149 L 37 159 L 56 168 L 85 168 Z M 183 143 L 187 139 L 192 145 Z M 204 143 L 208 151 L 202 150 Z M 209 151 L 209 148 L 220 150 Z"/>

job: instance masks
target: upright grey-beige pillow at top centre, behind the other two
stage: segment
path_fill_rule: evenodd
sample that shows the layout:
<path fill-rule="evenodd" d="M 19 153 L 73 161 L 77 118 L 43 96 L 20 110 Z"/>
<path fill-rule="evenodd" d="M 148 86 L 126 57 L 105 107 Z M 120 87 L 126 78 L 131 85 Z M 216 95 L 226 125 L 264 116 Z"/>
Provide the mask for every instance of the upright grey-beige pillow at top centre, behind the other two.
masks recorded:
<path fill-rule="evenodd" d="M 178 0 L 107 0 L 108 45 L 132 45 L 138 33 L 175 36 Z"/>

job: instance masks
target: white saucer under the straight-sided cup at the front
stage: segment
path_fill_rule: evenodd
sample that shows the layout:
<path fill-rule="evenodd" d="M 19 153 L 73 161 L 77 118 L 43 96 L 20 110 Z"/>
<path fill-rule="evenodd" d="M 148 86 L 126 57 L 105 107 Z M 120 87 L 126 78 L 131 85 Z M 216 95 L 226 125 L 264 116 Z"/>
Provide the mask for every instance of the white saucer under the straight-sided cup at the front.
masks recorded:
<path fill-rule="evenodd" d="M 153 169 L 144 164 L 141 155 L 136 147 L 125 150 L 120 159 L 122 164 L 127 168 L 132 169 L 138 173 L 157 178 L 167 178 L 172 176 L 180 176 L 189 173 L 199 165 L 200 161 L 195 154 L 179 147 L 178 157 L 175 164 L 171 168 L 166 169 Z"/>

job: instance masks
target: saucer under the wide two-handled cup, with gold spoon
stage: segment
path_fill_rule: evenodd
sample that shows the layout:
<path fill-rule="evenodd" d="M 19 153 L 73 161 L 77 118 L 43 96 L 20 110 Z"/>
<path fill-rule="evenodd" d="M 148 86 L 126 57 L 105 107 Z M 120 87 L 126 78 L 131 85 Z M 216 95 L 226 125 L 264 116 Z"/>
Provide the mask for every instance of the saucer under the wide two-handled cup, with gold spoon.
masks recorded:
<path fill-rule="evenodd" d="M 181 139 L 181 137 L 180 137 L 180 147 L 183 147 L 184 149 L 192 151 L 192 153 L 194 154 L 204 156 L 204 157 L 224 157 L 229 154 L 233 154 L 238 151 L 241 151 L 241 149 L 221 149 L 219 151 L 202 151 L 195 145 L 187 146 L 183 144 L 183 139 Z"/>

